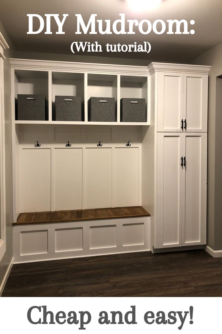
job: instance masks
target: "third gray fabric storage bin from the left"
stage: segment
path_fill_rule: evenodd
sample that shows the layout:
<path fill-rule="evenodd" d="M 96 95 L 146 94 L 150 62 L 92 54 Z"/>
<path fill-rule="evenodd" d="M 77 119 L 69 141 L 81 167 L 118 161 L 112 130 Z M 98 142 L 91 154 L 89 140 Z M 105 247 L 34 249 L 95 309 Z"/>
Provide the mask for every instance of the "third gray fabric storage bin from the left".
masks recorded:
<path fill-rule="evenodd" d="M 115 98 L 95 98 L 88 101 L 88 121 L 115 122 Z"/>

